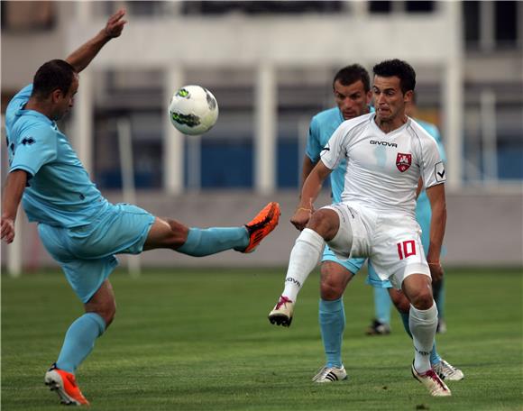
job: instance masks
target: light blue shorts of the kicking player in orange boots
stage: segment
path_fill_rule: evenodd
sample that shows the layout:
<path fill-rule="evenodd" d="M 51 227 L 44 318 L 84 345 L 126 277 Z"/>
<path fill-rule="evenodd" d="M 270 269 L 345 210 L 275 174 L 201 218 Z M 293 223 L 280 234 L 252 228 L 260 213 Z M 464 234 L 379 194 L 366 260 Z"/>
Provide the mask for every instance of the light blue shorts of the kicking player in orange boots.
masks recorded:
<path fill-rule="evenodd" d="M 118 265 L 115 254 L 139 254 L 154 215 L 136 205 L 109 205 L 91 224 L 75 228 L 38 224 L 41 242 L 63 269 L 82 303 Z"/>

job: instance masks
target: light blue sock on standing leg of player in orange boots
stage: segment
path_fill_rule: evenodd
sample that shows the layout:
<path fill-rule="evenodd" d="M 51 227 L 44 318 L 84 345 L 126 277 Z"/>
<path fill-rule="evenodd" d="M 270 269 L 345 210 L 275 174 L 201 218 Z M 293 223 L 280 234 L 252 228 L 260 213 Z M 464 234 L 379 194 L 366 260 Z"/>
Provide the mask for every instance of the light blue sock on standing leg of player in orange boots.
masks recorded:
<path fill-rule="evenodd" d="M 96 313 L 86 313 L 70 324 L 56 366 L 72 372 L 84 361 L 95 346 L 96 338 L 106 331 L 106 322 Z"/>

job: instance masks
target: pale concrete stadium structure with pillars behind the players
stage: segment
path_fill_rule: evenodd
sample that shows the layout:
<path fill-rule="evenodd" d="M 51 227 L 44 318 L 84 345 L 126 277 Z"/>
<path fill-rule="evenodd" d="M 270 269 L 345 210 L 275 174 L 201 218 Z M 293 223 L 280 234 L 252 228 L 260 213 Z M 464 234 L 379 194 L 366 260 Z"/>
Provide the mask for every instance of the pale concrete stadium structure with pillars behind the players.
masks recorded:
<path fill-rule="evenodd" d="M 519 98 L 517 101 L 521 104 L 523 48 L 496 52 L 487 57 L 481 53 L 467 53 L 463 45 L 463 10 L 459 2 L 435 2 L 436 9 L 430 14 L 406 14 L 402 11 L 386 15 L 371 14 L 366 7 L 368 2 L 346 2 L 335 14 L 259 16 L 238 13 L 184 15 L 181 12 L 182 3 L 166 2 L 161 5 L 161 13 L 129 15 L 130 23 L 122 38 L 109 43 L 81 74 L 76 107 L 70 122 L 65 124 L 69 136 L 86 168 L 92 170 L 96 152 L 94 119 L 99 100 L 97 93 L 100 84 L 103 84 L 104 74 L 109 70 L 117 72 L 132 68 L 158 73 L 160 79 L 151 78 L 151 82 L 161 85 L 165 101 L 169 100 L 173 90 L 188 79 L 192 80 L 195 71 L 205 72 L 208 76 L 206 81 L 218 84 L 224 72 L 243 70 L 248 73 L 244 81 L 253 88 L 252 189 L 210 193 L 188 190 L 186 181 L 191 180 L 188 175 L 191 168 L 184 167 L 186 142 L 165 115 L 161 123 L 162 187 L 146 193 L 139 192 L 136 202 L 158 215 L 172 215 L 188 224 L 208 226 L 243 223 L 265 200 L 273 199 L 283 205 L 282 224 L 273 238 L 248 258 L 238 258 L 237 253 L 228 252 L 206 259 L 189 259 L 173 256 L 169 251 L 154 251 L 143 256 L 145 264 L 171 267 L 286 264 L 296 237 L 296 232 L 286 221 L 296 203 L 297 192 L 280 190 L 276 184 L 278 85 L 295 84 L 292 73 L 296 69 L 306 73 L 304 78 L 310 78 L 319 71 L 323 73 L 319 83 L 328 85 L 332 68 L 351 61 L 372 67 L 381 59 L 394 57 L 422 67 L 419 78 L 422 85 L 424 82 L 437 85 L 435 94 L 442 117 L 449 171 L 446 261 L 454 265 L 521 265 L 521 181 L 503 187 L 497 187 L 499 181 L 496 178 L 492 181 L 486 178 L 479 187 L 464 183 L 463 146 L 466 142 L 463 129 L 467 123 L 463 114 L 467 98 L 464 87 L 468 81 L 479 81 L 485 85 L 517 85 L 519 93 L 512 90 L 506 98 Z M 67 56 L 70 50 L 97 32 L 105 23 L 107 9 L 119 5 L 125 6 L 125 2 L 58 2 L 52 4 L 55 24 L 50 30 L 3 32 L 3 103 L 9 93 L 31 80 L 43 61 Z M 481 7 L 489 6 L 492 5 Z M 522 45 L 523 6 L 518 4 L 517 10 L 520 23 L 518 44 Z M 483 12 L 488 14 L 488 10 Z M 489 32 L 489 23 L 482 24 Z M 488 49 L 491 47 L 489 37 L 486 34 L 483 37 L 486 39 L 482 38 L 483 48 Z M 317 84 L 318 81 L 315 83 L 312 80 L 311 83 Z M 495 105 L 495 100 L 492 102 L 489 96 L 491 94 L 487 93 L 480 98 L 480 117 L 491 115 L 489 118 L 495 118 L 489 109 Z M 523 122 L 519 124 L 523 132 Z M 223 127 L 226 129 L 227 123 Z M 483 148 L 492 141 L 496 145 L 495 130 L 493 135 L 491 132 L 483 137 Z M 5 177 L 5 148 L 2 150 Z M 492 168 L 496 169 L 495 160 L 486 152 L 483 168 L 488 169 L 487 165 L 493 163 Z M 96 174 L 94 178 L 96 180 Z M 117 201 L 122 196 L 110 193 L 109 198 Z M 324 204 L 327 202 L 328 199 L 324 198 Z M 9 250 L 2 245 L 3 255 L 5 251 L 10 255 L 9 259 L 2 259 L 2 264 L 8 260 L 9 269 L 14 272 L 35 264 L 51 264 L 36 240 L 34 225 L 28 226 L 25 221 L 17 223 L 21 227 L 19 242 Z"/>

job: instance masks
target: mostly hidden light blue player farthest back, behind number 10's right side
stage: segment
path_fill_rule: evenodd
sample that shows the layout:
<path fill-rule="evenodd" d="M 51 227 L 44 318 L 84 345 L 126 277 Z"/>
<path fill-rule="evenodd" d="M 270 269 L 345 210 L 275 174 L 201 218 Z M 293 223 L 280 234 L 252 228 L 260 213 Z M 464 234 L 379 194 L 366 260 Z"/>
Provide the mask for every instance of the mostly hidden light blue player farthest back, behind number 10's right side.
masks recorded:
<path fill-rule="evenodd" d="M 417 105 L 416 105 L 416 93 L 413 96 L 411 104 L 409 104 L 407 114 L 410 117 L 416 117 Z M 445 149 L 439 130 L 436 125 L 432 123 L 424 122 L 423 120 L 416 119 L 417 123 L 421 125 L 437 142 L 437 148 L 441 158 L 446 161 Z M 432 211 L 430 209 L 430 203 L 428 201 L 427 193 L 422 190 L 417 197 L 416 203 L 416 220 L 421 227 L 421 242 L 423 243 L 423 249 L 427 253 L 429 244 L 429 233 L 430 233 L 430 217 Z M 440 281 L 435 281 L 432 284 L 434 293 L 434 300 L 437 306 L 437 328 L 436 333 L 445 333 L 445 277 Z M 375 318 L 372 320 L 372 324 L 367 328 L 366 333 L 368 335 L 383 335 L 390 333 L 390 308 L 391 301 L 389 293 L 385 288 L 375 287 L 374 292 L 374 310 Z"/>

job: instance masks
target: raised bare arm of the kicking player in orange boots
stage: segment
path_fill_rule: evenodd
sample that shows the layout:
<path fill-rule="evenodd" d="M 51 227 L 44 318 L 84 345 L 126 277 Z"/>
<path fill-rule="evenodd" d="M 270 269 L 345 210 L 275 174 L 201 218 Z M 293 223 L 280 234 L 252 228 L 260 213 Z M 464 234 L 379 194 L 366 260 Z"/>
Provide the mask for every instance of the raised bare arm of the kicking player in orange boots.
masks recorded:
<path fill-rule="evenodd" d="M 98 51 L 106 45 L 107 41 L 118 37 L 124 30 L 124 25 L 127 21 L 123 20 L 125 11 L 118 10 L 115 14 L 109 17 L 106 27 L 96 34 L 91 40 L 79 47 L 78 50 L 73 51 L 66 61 L 75 68 L 79 73 L 86 68 L 89 63 L 96 57 Z"/>

